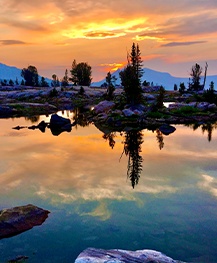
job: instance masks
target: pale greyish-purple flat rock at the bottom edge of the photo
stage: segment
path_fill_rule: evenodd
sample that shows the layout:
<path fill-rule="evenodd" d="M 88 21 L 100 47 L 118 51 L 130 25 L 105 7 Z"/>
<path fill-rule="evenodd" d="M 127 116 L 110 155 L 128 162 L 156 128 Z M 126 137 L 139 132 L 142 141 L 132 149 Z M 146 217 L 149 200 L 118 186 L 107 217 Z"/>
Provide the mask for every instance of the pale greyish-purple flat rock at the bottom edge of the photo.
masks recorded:
<path fill-rule="evenodd" d="M 75 263 L 183 263 L 154 250 L 128 251 L 121 249 L 95 249 L 84 250 Z"/>

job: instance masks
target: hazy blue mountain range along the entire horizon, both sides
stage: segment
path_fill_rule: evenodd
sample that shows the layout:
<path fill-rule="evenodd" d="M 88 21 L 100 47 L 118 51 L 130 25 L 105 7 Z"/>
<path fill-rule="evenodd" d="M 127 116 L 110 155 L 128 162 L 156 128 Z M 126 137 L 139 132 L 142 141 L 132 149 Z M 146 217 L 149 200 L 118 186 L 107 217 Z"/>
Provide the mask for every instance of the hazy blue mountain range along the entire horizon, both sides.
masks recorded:
<path fill-rule="evenodd" d="M 121 69 L 118 69 L 112 74 L 112 76 L 116 77 L 117 79 L 115 81 L 116 85 L 121 84 L 121 80 L 119 77 L 120 71 Z M 13 81 L 15 81 L 16 78 L 18 79 L 19 82 L 22 81 L 23 78 L 21 77 L 21 69 L 0 63 L 0 80 L 6 79 L 7 81 L 9 81 L 10 79 L 12 79 Z M 49 79 L 46 80 L 49 83 L 51 81 Z M 176 84 L 179 87 L 181 82 L 184 82 L 185 86 L 188 87 L 188 82 L 189 82 L 189 78 L 174 77 L 167 72 L 160 72 L 149 68 L 143 68 L 143 76 L 141 80 L 142 82 L 146 80 L 147 82 L 153 83 L 153 85 L 155 86 L 162 85 L 166 90 L 173 90 L 174 84 Z M 205 86 L 206 89 L 209 88 L 211 81 L 213 81 L 214 84 L 217 83 L 217 75 L 212 75 L 212 76 L 207 75 L 206 86 Z M 92 86 L 100 87 L 105 82 L 106 80 L 102 79 L 101 81 L 93 82 Z M 201 83 L 202 82 L 203 82 L 203 77 L 201 78 Z"/>

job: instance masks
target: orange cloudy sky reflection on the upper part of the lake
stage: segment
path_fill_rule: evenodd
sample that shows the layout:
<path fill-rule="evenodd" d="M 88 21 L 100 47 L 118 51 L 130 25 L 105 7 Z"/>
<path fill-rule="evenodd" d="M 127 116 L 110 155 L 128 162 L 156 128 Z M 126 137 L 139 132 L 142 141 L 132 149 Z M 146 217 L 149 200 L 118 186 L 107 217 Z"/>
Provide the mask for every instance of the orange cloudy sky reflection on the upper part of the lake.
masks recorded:
<path fill-rule="evenodd" d="M 21 125 L 23 120 L 15 122 Z M 123 152 L 120 134 L 111 149 L 94 126 L 79 127 L 54 137 L 49 131 L 12 132 L 14 121 L 4 123 L 1 120 L 0 195 L 16 192 L 17 203 L 23 195 L 27 199 L 39 197 L 57 206 L 77 200 L 136 201 L 136 193 L 172 194 L 189 188 L 217 196 L 216 174 L 212 172 L 217 156 L 216 133 L 209 143 L 199 130 L 193 132 L 179 126 L 174 134 L 164 136 L 165 146 L 160 151 L 156 133 L 144 130 L 143 170 L 133 190 L 126 176 L 128 158 L 123 155 L 120 159 Z M 99 211 L 104 206 L 99 207 L 96 214 L 102 214 Z"/>

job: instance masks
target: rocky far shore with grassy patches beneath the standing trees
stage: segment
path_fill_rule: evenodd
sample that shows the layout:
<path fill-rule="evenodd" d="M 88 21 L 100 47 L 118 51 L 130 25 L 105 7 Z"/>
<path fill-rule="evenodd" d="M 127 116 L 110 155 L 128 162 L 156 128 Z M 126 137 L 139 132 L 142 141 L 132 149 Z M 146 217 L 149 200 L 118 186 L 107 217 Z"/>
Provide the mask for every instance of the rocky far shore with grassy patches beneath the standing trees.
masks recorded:
<path fill-rule="evenodd" d="M 82 88 L 82 91 L 81 91 Z M 84 89 L 83 89 L 84 88 Z M 85 118 L 100 126 L 121 130 L 126 126 L 146 128 L 162 124 L 193 124 L 217 121 L 217 106 L 195 101 L 193 95 L 166 92 L 167 107 L 155 108 L 157 90 L 144 89 L 143 103 L 124 104 L 123 89 L 116 89 L 112 100 L 106 100 L 105 88 L 26 86 L 0 87 L 0 118 L 48 115 L 60 110 L 86 108 Z"/>

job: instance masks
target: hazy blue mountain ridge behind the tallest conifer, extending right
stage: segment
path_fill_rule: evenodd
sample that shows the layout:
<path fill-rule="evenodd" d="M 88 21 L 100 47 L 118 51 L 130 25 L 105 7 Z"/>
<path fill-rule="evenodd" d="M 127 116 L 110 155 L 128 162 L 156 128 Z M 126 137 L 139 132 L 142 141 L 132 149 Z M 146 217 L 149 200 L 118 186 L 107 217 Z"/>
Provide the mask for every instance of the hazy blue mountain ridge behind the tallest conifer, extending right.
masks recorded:
<path fill-rule="evenodd" d="M 121 84 L 121 80 L 119 77 L 119 73 L 122 69 L 118 69 L 115 71 L 112 76 L 115 76 L 117 78 L 117 81 L 115 82 L 116 85 Z M 147 82 L 152 83 L 153 85 L 160 86 L 162 85 L 166 90 L 173 90 L 174 84 L 176 84 L 179 88 L 180 83 L 184 82 L 186 88 L 188 87 L 189 78 L 181 78 L 181 77 L 174 77 L 168 72 L 160 72 L 149 68 L 143 68 L 143 76 L 141 78 L 142 82 L 145 80 Z M 217 75 L 213 76 L 207 76 L 206 78 L 206 85 L 205 88 L 209 88 L 210 82 L 213 81 L 217 85 Z M 101 86 L 103 83 L 105 83 L 106 80 L 103 79 L 99 82 L 94 82 L 93 86 Z M 201 77 L 201 83 L 203 83 L 203 77 Z"/>

